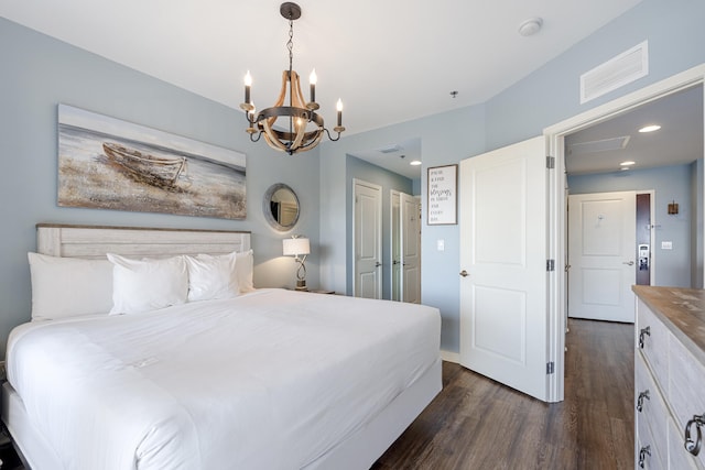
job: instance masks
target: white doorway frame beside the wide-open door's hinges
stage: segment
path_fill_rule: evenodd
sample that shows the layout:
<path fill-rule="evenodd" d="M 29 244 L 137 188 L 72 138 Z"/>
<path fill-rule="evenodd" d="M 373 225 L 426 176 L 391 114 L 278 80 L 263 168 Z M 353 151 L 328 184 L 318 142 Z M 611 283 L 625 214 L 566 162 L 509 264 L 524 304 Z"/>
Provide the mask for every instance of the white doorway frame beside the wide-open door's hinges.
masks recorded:
<path fill-rule="evenodd" d="M 543 134 L 546 138 L 547 154 L 555 157 L 555 171 L 549 175 L 549 255 L 551 259 L 560 260 L 558 265 L 566 260 L 567 249 L 565 237 L 567 198 L 563 185 L 565 177 L 565 136 L 685 88 L 697 85 L 702 87 L 703 84 L 705 84 L 705 64 L 646 86 L 543 130 Z M 565 308 L 567 295 L 564 270 L 556 270 L 555 276 L 549 276 L 547 291 L 547 352 L 549 358 L 554 358 L 555 360 L 555 373 L 549 380 L 549 401 L 561 402 L 564 397 L 564 351 L 567 326 L 565 311 L 560 311 L 561 308 Z"/>

